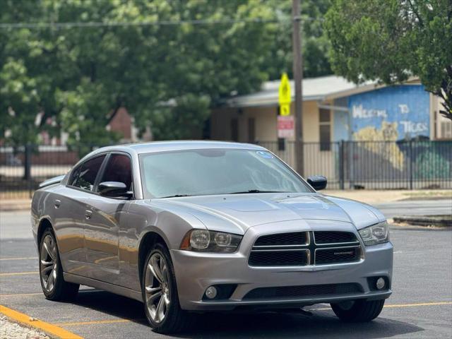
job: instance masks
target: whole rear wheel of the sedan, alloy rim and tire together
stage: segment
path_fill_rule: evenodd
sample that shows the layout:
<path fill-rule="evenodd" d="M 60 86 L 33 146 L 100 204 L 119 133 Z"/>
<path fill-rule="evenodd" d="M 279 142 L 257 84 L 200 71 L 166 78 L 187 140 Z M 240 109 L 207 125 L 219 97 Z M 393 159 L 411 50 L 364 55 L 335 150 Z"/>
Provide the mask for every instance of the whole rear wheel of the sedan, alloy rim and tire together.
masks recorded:
<path fill-rule="evenodd" d="M 80 285 L 64 281 L 57 241 L 50 228 L 42 234 L 39 267 L 42 292 L 47 299 L 71 300 L 77 296 Z"/>

